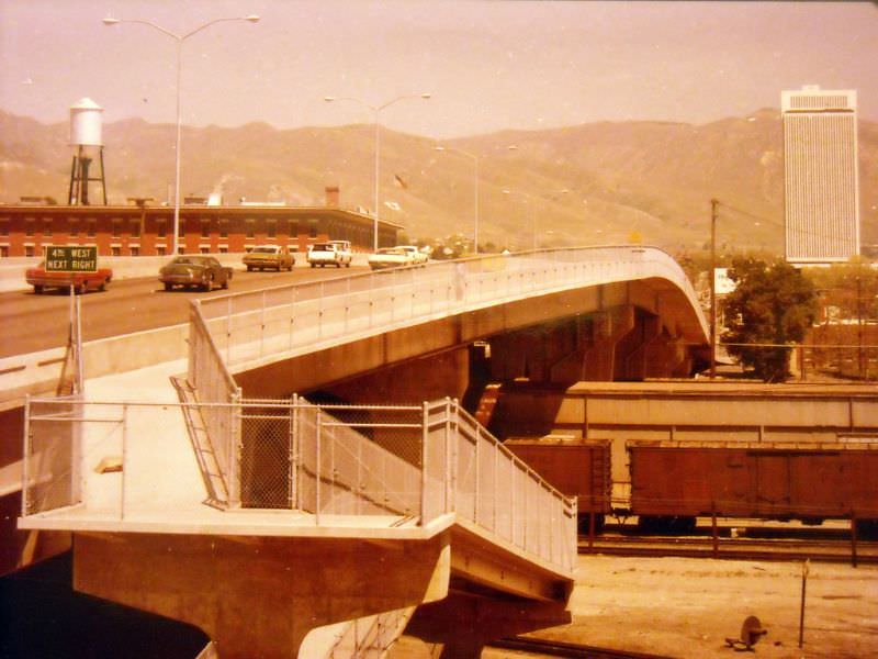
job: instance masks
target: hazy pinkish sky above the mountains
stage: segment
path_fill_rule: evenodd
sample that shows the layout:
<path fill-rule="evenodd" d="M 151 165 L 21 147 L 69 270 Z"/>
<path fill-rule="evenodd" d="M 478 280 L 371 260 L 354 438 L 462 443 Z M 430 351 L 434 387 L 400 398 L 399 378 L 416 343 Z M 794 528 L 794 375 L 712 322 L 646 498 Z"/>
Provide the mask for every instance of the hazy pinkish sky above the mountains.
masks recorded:
<path fill-rule="evenodd" d="M 432 137 L 601 120 L 706 123 L 779 108 L 806 83 L 858 91 L 878 120 L 870 2 L 444 0 L 0 0 L 0 108 L 66 122 L 89 97 L 104 120 L 281 127 L 371 123 Z"/>

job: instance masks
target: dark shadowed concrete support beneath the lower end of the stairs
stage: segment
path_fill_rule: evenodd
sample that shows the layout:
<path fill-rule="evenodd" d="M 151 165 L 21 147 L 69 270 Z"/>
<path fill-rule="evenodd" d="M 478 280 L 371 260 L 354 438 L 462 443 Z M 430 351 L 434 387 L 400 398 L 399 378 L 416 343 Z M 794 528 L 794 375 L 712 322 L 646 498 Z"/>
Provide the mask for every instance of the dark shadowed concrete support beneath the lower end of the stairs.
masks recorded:
<path fill-rule="evenodd" d="M 477 659 L 486 643 L 570 623 L 560 602 L 491 599 L 462 592 L 419 606 L 406 634 L 440 644 L 443 659 Z"/>

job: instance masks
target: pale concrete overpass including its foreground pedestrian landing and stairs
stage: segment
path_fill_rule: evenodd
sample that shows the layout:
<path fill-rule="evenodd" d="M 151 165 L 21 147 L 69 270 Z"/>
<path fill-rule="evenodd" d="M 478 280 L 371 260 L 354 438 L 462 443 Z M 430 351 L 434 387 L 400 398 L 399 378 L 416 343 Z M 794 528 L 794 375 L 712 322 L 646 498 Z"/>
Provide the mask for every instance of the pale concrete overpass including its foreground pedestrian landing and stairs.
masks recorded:
<path fill-rule="evenodd" d="M 87 345 L 83 391 L 29 399 L 19 525 L 72 533 L 78 590 L 223 658 L 382 656 L 403 629 L 477 657 L 563 623 L 575 501 L 458 400 L 685 377 L 707 345 L 683 271 L 638 246 L 230 294 L 162 332 Z"/>

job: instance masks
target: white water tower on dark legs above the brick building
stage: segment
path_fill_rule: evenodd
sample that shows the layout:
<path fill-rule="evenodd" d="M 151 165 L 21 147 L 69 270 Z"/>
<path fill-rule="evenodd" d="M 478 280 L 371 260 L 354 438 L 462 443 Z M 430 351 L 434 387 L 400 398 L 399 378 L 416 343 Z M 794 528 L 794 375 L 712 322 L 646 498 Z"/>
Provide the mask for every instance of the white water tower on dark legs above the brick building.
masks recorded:
<path fill-rule="evenodd" d="M 106 205 L 106 180 L 103 175 L 103 137 L 101 135 L 103 108 L 89 98 L 70 105 L 70 145 L 76 147 L 70 168 L 70 205 L 89 205 L 89 181 L 100 181 L 103 204 Z M 98 176 L 90 175 L 91 163 L 98 156 L 101 166 Z"/>

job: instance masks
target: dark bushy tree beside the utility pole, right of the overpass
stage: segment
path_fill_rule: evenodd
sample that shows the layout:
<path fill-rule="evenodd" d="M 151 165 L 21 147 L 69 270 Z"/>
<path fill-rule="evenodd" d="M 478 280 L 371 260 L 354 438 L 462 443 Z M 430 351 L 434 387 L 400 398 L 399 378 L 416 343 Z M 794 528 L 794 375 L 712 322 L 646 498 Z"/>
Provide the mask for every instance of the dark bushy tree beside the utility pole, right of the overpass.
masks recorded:
<path fill-rule="evenodd" d="M 766 382 L 783 382 L 790 375 L 787 346 L 804 338 L 817 314 L 813 284 L 781 260 L 738 258 L 729 277 L 735 282 L 723 304 L 729 354 Z"/>

